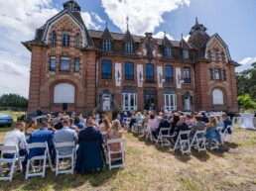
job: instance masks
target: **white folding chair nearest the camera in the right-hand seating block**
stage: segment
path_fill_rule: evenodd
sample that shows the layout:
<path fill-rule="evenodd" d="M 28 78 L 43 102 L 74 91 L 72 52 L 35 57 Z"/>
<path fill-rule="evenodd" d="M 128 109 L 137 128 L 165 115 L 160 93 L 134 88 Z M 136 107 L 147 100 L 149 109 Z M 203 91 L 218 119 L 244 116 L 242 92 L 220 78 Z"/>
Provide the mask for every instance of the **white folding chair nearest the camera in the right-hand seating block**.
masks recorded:
<path fill-rule="evenodd" d="M 190 133 L 191 133 L 191 130 L 189 130 L 189 131 L 181 131 L 179 133 L 178 139 L 177 139 L 177 141 L 175 143 L 174 151 L 180 147 L 183 154 L 184 153 L 189 153 L 189 154 L 192 153 L 190 139 L 189 139 Z M 187 135 L 188 139 L 187 140 L 182 140 L 182 136 L 183 135 L 184 136 Z"/>

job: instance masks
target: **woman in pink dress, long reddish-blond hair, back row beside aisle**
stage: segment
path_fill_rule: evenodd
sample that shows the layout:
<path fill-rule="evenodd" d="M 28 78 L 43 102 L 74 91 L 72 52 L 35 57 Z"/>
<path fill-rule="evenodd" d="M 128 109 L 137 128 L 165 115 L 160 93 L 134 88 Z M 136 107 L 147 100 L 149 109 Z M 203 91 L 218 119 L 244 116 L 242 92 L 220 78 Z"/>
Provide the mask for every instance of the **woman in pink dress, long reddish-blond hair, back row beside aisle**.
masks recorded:
<path fill-rule="evenodd" d="M 107 131 L 105 139 L 107 141 L 107 140 L 120 139 L 120 138 L 122 138 L 122 127 L 118 120 L 114 120 L 111 129 Z M 111 143 L 109 144 L 109 146 L 110 146 L 109 149 L 111 151 L 119 151 L 121 149 L 120 143 Z M 120 153 L 111 155 L 111 158 L 119 158 L 119 157 L 121 157 Z"/>

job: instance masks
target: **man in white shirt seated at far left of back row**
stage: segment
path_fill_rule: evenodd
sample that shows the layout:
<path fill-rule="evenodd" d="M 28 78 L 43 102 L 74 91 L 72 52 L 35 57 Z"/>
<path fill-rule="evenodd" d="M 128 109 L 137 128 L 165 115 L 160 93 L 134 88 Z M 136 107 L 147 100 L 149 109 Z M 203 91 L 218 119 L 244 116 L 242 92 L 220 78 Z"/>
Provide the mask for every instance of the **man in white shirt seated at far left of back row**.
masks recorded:
<path fill-rule="evenodd" d="M 25 134 L 23 133 L 25 129 L 25 123 L 23 122 L 18 122 L 15 126 L 15 129 L 11 132 L 8 132 L 4 136 L 4 145 L 18 145 L 19 146 L 19 154 L 20 156 L 26 156 L 25 160 L 22 162 L 23 165 L 27 163 L 27 150 L 26 150 L 26 138 Z M 13 158 L 14 153 L 5 150 L 3 151 L 3 157 L 4 158 Z"/>

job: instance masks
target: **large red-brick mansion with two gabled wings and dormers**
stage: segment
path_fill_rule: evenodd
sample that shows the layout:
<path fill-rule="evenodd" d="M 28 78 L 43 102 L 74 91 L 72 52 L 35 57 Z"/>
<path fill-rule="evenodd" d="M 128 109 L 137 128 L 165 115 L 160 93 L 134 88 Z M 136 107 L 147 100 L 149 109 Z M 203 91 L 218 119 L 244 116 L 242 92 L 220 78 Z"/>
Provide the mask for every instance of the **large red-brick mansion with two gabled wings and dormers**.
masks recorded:
<path fill-rule="evenodd" d="M 28 112 L 238 112 L 235 67 L 218 34 L 195 21 L 186 42 L 87 30 L 79 5 L 22 43 L 32 52 Z"/>

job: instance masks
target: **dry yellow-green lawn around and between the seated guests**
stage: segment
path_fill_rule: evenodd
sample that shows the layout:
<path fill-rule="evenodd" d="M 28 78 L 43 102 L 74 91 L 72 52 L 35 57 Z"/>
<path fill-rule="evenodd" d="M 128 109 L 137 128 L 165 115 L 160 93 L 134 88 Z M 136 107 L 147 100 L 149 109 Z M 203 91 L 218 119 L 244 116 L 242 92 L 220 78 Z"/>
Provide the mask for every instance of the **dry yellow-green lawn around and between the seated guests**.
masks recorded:
<path fill-rule="evenodd" d="M 0 128 L 0 142 L 11 128 Z M 13 181 L 1 181 L 0 190 L 256 190 L 256 131 L 235 130 L 235 143 L 217 151 L 182 155 L 170 147 L 145 142 L 124 133 L 126 166 L 86 175 L 59 175 L 47 170 L 45 178 L 25 180 L 15 173 Z"/>

